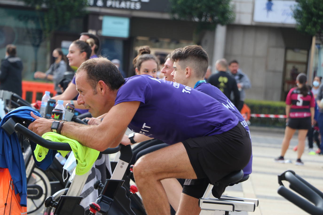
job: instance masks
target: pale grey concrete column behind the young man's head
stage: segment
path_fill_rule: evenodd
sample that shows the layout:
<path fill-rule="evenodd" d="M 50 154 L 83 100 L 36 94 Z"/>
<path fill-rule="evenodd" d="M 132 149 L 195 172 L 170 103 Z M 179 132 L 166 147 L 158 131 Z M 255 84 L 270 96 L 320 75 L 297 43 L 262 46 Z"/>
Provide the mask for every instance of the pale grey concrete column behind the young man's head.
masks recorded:
<path fill-rule="evenodd" d="M 216 26 L 215 35 L 214 35 L 212 73 L 215 73 L 215 62 L 221 58 L 224 58 L 225 38 L 226 38 L 226 25 L 222 26 L 218 24 Z"/>

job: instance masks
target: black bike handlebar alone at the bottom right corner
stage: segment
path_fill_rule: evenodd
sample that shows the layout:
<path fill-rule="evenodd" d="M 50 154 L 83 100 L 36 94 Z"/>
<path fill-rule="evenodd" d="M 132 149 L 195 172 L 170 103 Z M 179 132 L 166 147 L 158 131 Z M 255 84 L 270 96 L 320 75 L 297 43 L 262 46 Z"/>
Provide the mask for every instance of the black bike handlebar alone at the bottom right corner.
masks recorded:
<path fill-rule="evenodd" d="M 284 187 L 282 181 L 290 183 L 289 188 L 296 191 L 306 199 L 300 197 L 296 193 Z M 323 193 L 315 188 L 313 185 L 295 174 L 294 171 L 288 170 L 278 176 L 278 183 L 280 184 L 277 193 L 283 196 L 288 201 L 292 202 L 299 208 L 305 210 L 312 215 L 323 214 Z M 314 204 L 312 204 L 312 203 Z"/>

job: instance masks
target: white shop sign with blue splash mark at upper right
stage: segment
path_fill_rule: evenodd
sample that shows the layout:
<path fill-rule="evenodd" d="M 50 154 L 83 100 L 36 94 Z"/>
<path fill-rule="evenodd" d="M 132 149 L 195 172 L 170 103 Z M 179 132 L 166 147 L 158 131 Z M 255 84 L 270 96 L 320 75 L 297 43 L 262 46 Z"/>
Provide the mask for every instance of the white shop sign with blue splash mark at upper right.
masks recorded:
<path fill-rule="evenodd" d="M 296 24 L 292 10 L 296 4 L 295 1 L 287 0 L 255 0 L 254 21 Z"/>

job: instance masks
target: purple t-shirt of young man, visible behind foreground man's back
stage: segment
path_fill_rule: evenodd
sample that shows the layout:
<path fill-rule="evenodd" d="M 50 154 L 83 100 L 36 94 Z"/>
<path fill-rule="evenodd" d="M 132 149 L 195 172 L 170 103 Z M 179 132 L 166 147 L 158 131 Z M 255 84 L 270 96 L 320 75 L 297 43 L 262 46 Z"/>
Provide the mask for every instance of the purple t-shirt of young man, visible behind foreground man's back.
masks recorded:
<path fill-rule="evenodd" d="M 232 111 L 234 113 L 234 115 L 238 118 L 238 120 L 242 124 L 242 126 L 245 128 L 245 130 L 249 133 L 249 136 L 250 136 L 250 130 L 249 130 L 247 122 L 245 122 L 245 118 L 243 118 L 243 116 L 237 110 L 237 108 L 234 106 L 234 104 L 230 101 L 230 99 L 228 99 L 224 95 L 224 93 L 222 93 L 221 90 L 219 90 L 219 88 L 213 86 L 210 83 L 204 82 L 204 83 L 198 84 L 194 89 L 213 97 L 214 99 L 216 99 L 217 101 L 222 103 L 223 106 L 226 107 L 228 110 Z M 250 139 L 251 139 L 251 136 L 250 136 Z M 244 176 L 251 174 L 251 172 L 252 172 L 252 154 L 251 154 L 248 164 L 243 169 L 243 172 L 244 172 Z"/>

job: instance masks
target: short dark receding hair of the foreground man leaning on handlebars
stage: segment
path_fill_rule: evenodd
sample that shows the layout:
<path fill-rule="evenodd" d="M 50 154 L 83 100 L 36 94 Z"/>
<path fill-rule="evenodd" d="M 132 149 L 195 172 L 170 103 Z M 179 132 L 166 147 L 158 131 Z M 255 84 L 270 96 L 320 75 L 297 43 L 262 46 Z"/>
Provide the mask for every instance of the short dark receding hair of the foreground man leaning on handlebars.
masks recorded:
<path fill-rule="evenodd" d="M 125 82 L 118 68 L 104 57 L 91 58 L 83 62 L 78 67 L 76 74 L 81 70 L 86 72 L 88 82 L 92 86 L 94 93 L 97 93 L 96 86 L 99 81 L 106 83 L 110 90 L 118 90 Z"/>

